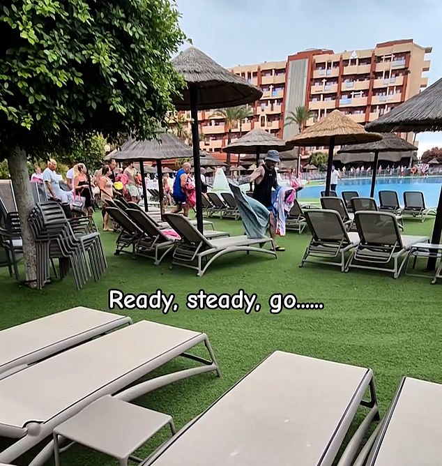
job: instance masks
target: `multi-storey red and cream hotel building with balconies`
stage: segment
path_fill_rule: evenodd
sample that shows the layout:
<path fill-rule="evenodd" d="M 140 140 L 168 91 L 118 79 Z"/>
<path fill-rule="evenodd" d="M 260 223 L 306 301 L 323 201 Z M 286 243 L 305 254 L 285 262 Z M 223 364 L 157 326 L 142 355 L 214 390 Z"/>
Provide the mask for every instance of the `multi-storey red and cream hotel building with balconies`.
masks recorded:
<path fill-rule="evenodd" d="M 389 112 L 427 87 L 427 54 L 432 47 L 421 47 L 409 40 L 379 43 L 374 49 L 305 50 L 286 61 L 269 61 L 229 68 L 263 91 L 250 105 L 253 117 L 241 124 L 244 135 L 261 127 L 284 140 L 298 133 L 296 124 L 284 126 L 290 112 L 305 105 L 312 112 L 306 126 L 335 109 L 365 124 Z M 186 112 L 190 121 L 190 112 Z M 213 111 L 199 112 L 204 138 L 201 150 L 219 152 L 227 145 L 227 128 Z M 190 123 L 189 123 L 190 133 Z M 240 125 L 232 129 L 232 140 L 240 136 Z M 413 141 L 413 134 L 404 135 Z M 225 155 L 220 154 L 220 158 Z"/>

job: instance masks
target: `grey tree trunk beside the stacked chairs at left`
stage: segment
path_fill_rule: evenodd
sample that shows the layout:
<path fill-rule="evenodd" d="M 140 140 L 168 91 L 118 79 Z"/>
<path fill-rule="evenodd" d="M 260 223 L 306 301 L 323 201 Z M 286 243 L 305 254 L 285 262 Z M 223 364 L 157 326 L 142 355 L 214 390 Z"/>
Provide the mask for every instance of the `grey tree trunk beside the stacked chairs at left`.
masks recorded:
<path fill-rule="evenodd" d="M 28 223 L 28 216 L 33 208 L 33 196 L 31 183 L 29 183 L 28 165 L 26 163 L 26 153 L 22 149 L 15 149 L 8 156 L 8 167 L 10 179 L 13 182 L 17 210 L 20 216 L 20 226 L 22 227 L 24 271 L 26 282 L 31 288 L 37 285 L 37 260 L 36 243 L 33 239 L 31 227 Z"/>

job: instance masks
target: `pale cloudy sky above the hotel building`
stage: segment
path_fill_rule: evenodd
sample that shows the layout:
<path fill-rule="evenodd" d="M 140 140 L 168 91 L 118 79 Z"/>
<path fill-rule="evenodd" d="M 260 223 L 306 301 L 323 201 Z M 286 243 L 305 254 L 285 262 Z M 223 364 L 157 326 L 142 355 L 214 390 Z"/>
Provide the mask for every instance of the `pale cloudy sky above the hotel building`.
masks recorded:
<path fill-rule="evenodd" d="M 176 0 L 176 6 L 192 45 L 224 68 L 286 60 L 309 48 L 338 53 L 413 39 L 433 47 L 423 73 L 428 85 L 442 77 L 440 0 Z M 416 140 L 421 154 L 442 146 L 442 133 L 419 133 Z"/>

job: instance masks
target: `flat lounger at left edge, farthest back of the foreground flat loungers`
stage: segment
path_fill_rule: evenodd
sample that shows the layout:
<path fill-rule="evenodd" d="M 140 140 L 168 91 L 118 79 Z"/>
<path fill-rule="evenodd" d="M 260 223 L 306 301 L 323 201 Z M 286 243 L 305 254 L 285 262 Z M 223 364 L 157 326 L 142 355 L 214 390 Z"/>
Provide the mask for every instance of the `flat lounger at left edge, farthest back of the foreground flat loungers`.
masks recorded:
<path fill-rule="evenodd" d="M 130 317 L 78 306 L 0 331 L 0 379 L 96 336 L 132 324 Z"/>

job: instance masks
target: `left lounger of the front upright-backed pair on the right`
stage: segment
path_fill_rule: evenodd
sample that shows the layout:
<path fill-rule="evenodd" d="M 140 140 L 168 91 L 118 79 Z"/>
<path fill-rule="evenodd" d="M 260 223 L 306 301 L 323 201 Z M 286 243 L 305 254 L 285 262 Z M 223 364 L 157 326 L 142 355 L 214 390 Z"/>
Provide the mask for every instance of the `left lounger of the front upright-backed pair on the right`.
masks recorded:
<path fill-rule="evenodd" d="M 338 265 L 344 272 L 356 246 L 358 246 L 358 234 L 346 231 L 337 211 L 308 209 L 304 211 L 304 214 L 312 233 L 312 240 L 307 246 L 299 266 L 302 267 L 305 262 Z M 350 256 L 346 259 L 348 253 Z M 340 257 L 340 262 L 335 261 L 337 257 Z M 313 260 L 313 258 L 316 259 Z"/>

